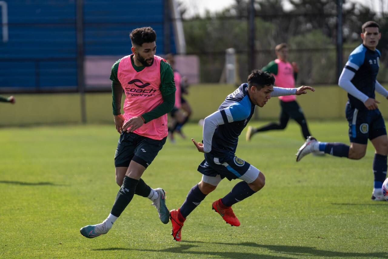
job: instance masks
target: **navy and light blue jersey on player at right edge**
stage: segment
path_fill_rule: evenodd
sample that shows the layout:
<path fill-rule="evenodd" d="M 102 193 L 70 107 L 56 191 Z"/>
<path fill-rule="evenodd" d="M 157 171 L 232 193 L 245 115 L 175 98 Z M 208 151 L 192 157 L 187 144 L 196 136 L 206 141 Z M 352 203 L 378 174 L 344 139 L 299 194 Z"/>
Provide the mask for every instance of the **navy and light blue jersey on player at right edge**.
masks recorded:
<path fill-rule="evenodd" d="M 345 68 L 355 73 L 352 84 L 369 98 L 375 98 L 374 86 L 379 72 L 380 51 L 372 51 L 361 44 L 350 53 Z M 348 94 L 352 107 L 366 110 L 364 103 L 351 94 Z"/>

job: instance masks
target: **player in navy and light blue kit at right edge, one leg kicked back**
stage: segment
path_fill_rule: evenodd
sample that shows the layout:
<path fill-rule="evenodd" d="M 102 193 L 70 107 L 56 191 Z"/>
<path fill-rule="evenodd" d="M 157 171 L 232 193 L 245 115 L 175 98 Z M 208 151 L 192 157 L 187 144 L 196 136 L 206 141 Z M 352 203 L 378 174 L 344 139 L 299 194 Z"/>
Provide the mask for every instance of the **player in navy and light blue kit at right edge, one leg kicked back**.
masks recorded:
<path fill-rule="evenodd" d="M 338 85 L 348 92 L 346 119 L 349 124 L 350 146 L 343 143 L 318 142 L 309 137 L 296 154 L 296 161 L 314 151 L 332 156 L 361 159 L 365 156 L 368 138 L 375 149 L 373 160 L 374 188 L 372 200 L 384 201 L 381 186 L 387 173 L 388 139 L 385 122 L 378 109 L 375 91 L 388 99 L 388 91 L 376 80 L 380 51 L 376 49 L 381 33 L 379 25 L 368 21 L 362 25 L 362 44 L 349 56 Z"/>

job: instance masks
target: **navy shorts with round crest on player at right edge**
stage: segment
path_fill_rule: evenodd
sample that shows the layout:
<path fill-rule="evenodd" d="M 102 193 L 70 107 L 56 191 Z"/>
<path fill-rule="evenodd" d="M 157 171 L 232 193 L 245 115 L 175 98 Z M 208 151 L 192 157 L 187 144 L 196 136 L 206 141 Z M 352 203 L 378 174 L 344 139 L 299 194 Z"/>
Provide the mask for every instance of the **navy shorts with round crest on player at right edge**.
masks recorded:
<path fill-rule="evenodd" d="M 350 142 L 367 144 L 370 140 L 386 135 L 385 122 L 379 109 L 358 110 L 346 104 L 346 119 L 349 122 Z"/>

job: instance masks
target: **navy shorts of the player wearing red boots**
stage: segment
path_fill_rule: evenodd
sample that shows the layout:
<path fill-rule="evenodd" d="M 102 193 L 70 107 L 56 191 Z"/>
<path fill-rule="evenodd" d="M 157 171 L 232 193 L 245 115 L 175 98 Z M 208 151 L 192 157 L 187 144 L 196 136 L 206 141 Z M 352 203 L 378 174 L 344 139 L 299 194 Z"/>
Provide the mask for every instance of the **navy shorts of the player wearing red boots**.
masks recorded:
<path fill-rule="evenodd" d="M 238 179 L 246 173 L 250 164 L 234 154 L 227 154 L 223 158 L 215 158 L 209 153 L 205 153 L 205 160 L 198 166 L 198 172 L 203 175 L 227 178 L 229 181 Z"/>

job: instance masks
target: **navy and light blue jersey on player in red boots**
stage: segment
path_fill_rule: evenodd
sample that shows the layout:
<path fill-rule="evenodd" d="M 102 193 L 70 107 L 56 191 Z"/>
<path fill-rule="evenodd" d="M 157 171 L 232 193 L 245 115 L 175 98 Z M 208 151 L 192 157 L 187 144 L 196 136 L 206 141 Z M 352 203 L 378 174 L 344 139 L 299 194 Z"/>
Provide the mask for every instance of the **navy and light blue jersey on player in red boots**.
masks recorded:
<path fill-rule="evenodd" d="M 242 84 L 229 94 L 218 109 L 225 124 L 218 125 L 213 135 L 210 153 L 215 157 L 236 152 L 239 135 L 255 111 L 249 99 L 248 84 Z"/>

